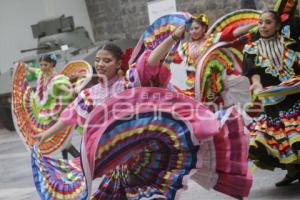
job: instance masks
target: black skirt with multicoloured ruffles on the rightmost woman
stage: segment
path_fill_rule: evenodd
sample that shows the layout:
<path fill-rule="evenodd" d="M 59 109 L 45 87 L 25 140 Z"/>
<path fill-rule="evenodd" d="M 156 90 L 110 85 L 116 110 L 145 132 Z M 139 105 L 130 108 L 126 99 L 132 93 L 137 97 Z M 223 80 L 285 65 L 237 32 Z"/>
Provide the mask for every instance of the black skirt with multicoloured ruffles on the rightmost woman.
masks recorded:
<path fill-rule="evenodd" d="M 300 160 L 299 95 L 266 106 L 250 128 L 250 159 L 260 168 L 285 168 Z"/>

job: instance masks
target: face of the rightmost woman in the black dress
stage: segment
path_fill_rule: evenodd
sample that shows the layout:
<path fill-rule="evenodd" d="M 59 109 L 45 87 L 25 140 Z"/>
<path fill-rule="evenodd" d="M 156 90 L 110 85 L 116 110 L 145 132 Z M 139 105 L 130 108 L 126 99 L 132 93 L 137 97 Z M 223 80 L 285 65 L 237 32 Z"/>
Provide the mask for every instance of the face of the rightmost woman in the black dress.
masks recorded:
<path fill-rule="evenodd" d="M 272 13 L 263 13 L 258 21 L 258 30 L 262 37 L 269 38 L 279 31 L 279 24 Z"/>

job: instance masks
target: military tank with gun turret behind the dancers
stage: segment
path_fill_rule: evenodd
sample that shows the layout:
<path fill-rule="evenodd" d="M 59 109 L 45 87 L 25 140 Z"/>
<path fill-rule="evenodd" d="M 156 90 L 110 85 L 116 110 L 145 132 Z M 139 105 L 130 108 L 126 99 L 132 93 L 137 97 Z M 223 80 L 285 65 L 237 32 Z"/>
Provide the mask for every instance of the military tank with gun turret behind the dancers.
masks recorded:
<path fill-rule="evenodd" d="M 72 16 L 60 16 L 48 20 L 43 20 L 31 26 L 33 38 L 38 40 L 35 48 L 23 49 L 22 53 L 36 51 L 36 55 L 20 58 L 18 61 L 25 62 L 31 67 L 39 67 L 38 59 L 40 55 L 53 52 L 57 57 L 56 71 L 62 68 L 70 61 L 85 60 L 91 65 L 94 63 L 97 49 L 101 44 L 108 42 L 93 42 L 87 30 L 84 27 L 75 27 Z M 134 47 L 137 40 L 116 40 L 112 39 L 122 49 Z M 15 62 L 18 62 L 15 61 Z M 14 130 L 11 115 L 11 91 L 13 65 L 7 72 L 0 75 L 0 127 L 8 130 Z M 33 74 L 27 73 L 26 78 L 32 81 L 34 85 L 35 78 Z"/>

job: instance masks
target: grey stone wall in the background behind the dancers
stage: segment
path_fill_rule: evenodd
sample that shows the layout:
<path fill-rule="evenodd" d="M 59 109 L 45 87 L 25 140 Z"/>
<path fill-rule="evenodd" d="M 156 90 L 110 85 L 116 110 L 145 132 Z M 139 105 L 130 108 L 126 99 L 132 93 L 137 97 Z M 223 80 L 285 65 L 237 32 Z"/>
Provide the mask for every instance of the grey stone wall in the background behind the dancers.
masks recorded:
<path fill-rule="evenodd" d="M 149 0 L 86 0 L 96 41 L 137 39 L 147 27 Z M 206 13 L 212 23 L 226 13 L 251 6 L 257 9 L 272 5 L 272 0 L 176 0 L 178 11 Z"/>

